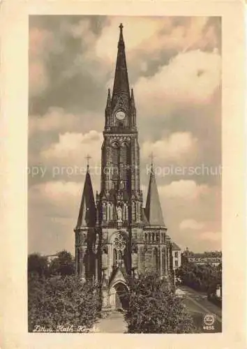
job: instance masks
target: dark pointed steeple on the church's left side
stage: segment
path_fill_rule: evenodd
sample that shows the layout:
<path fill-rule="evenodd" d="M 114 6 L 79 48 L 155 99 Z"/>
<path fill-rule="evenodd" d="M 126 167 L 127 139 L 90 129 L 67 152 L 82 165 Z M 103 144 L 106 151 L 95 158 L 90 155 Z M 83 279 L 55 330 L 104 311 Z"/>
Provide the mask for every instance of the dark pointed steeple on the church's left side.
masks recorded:
<path fill-rule="evenodd" d="M 77 227 L 93 228 L 96 223 L 96 206 L 93 198 L 93 187 L 91 184 L 91 177 L 89 173 L 89 164 L 87 165 L 87 173 L 84 181 L 84 188 L 82 193 L 82 202 L 77 221 Z"/>

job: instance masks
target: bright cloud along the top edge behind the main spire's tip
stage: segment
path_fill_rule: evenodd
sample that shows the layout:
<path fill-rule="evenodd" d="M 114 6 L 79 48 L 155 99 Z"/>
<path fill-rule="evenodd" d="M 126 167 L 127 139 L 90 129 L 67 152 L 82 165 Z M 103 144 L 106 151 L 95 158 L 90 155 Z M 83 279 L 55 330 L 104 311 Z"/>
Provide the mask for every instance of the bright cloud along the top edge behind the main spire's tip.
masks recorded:
<path fill-rule="evenodd" d="M 96 41 L 96 54 L 112 63 L 117 54 L 120 22 L 123 22 L 128 64 L 137 69 L 144 59 L 160 60 L 163 52 L 209 47 L 213 50 L 219 46 L 217 19 L 209 23 L 209 17 L 108 17 Z"/>

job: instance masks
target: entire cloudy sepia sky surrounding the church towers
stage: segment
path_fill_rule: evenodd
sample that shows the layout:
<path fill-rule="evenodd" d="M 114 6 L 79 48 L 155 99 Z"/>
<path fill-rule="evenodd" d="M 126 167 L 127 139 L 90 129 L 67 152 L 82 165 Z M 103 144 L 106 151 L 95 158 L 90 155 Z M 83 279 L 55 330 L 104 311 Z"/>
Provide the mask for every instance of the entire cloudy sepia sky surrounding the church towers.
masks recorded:
<path fill-rule="evenodd" d="M 100 188 L 100 147 L 119 23 L 137 107 L 141 180 L 151 151 L 168 233 L 221 248 L 219 17 L 31 16 L 29 253 L 74 253 L 85 156 Z"/>

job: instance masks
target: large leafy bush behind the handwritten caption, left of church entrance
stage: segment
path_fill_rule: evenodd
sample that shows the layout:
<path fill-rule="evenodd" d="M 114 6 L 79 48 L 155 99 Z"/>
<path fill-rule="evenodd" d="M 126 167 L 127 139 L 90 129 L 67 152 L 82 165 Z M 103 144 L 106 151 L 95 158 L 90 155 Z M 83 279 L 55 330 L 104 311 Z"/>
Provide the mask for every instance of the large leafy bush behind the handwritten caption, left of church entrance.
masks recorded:
<path fill-rule="evenodd" d="M 28 292 L 29 332 L 88 332 L 98 317 L 97 288 L 75 276 L 29 276 Z"/>

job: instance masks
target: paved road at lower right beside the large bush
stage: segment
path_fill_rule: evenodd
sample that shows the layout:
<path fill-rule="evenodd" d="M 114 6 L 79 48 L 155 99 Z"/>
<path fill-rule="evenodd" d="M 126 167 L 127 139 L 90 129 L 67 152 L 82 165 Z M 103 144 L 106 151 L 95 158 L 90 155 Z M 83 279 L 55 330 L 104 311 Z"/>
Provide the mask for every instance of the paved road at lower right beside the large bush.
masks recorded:
<path fill-rule="evenodd" d="M 215 304 L 207 300 L 207 295 L 197 292 L 187 286 L 179 286 L 177 294 L 184 297 L 184 303 L 188 307 L 195 324 L 200 328 L 200 332 L 222 332 L 222 311 Z M 206 313 L 213 313 L 216 315 L 215 329 L 203 329 L 203 318 Z"/>

